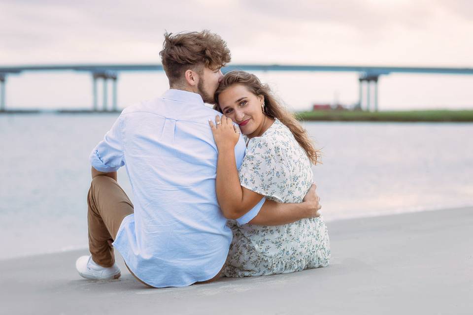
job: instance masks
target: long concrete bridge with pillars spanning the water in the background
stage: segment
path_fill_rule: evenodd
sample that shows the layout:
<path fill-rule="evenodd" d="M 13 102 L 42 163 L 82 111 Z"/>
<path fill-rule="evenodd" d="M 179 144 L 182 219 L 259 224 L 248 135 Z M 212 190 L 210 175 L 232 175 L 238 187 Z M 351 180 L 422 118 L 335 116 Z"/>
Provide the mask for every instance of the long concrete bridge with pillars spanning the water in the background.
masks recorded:
<path fill-rule="evenodd" d="M 117 110 L 117 80 L 118 73 L 125 71 L 163 71 L 161 64 L 66 64 L 66 65 L 30 65 L 30 66 L 0 66 L 0 112 L 6 111 L 5 84 L 9 75 L 27 71 L 80 71 L 90 72 L 93 80 L 92 110 L 99 111 L 97 99 L 98 80 L 102 81 L 103 100 L 102 111 L 108 110 L 107 83 L 112 83 L 112 110 Z M 321 71 L 321 72 L 357 72 L 359 73 L 358 107 L 364 110 L 378 110 L 378 79 L 381 75 L 390 73 L 424 73 L 424 74 L 469 74 L 473 68 L 450 67 L 391 67 L 391 66 L 344 66 L 344 65 L 279 65 L 279 64 L 230 64 L 222 69 L 244 71 Z M 374 93 L 373 97 L 371 93 Z M 373 98 L 373 104 L 371 99 Z M 373 105 L 373 108 L 372 108 Z"/>

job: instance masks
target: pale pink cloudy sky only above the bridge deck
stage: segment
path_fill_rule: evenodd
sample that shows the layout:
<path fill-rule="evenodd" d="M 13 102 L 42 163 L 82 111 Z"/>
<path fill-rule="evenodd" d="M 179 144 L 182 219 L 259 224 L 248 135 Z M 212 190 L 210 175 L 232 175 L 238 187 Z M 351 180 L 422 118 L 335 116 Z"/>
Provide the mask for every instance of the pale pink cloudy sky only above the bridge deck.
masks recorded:
<path fill-rule="evenodd" d="M 473 67 L 471 0 L 1 0 L 0 63 L 159 62 L 202 29 L 234 62 Z"/>

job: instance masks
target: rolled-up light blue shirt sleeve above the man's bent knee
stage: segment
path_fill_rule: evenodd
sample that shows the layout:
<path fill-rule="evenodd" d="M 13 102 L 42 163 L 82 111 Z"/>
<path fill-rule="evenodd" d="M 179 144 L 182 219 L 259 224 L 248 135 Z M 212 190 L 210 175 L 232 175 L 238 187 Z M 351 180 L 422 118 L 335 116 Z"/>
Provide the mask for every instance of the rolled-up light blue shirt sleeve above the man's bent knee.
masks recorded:
<path fill-rule="evenodd" d="M 120 116 L 90 154 L 90 164 L 100 172 L 115 172 L 125 165 L 121 124 Z"/>

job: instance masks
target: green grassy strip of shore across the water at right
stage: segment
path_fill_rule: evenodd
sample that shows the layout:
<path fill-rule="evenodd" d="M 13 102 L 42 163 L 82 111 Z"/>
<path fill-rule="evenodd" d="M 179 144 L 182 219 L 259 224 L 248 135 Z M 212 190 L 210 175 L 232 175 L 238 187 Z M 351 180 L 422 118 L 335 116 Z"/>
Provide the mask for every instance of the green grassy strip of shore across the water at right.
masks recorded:
<path fill-rule="evenodd" d="M 473 110 L 348 111 L 320 110 L 295 113 L 304 121 L 350 122 L 473 122 Z"/>

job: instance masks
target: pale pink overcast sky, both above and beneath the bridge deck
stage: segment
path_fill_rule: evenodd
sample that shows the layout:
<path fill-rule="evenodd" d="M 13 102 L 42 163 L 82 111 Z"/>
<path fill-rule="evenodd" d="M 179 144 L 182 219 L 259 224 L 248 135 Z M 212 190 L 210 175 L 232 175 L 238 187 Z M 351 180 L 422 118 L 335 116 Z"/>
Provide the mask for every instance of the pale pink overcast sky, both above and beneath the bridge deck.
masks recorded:
<path fill-rule="evenodd" d="M 165 30 L 203 29 L 227 41 L 234 63 L 473 67 L 472 0 L 0 0 L 0 65 L 159 63 Z M 345 103 L 357 100 L 356 74 L 261 75 L 297 108 L 334 97 Z M 471 77 L 383 76 L 380 103 L 385 108 L 470 106 L 473 95 L 466 89 L 472 90 Z M 294 88 L 300 85 L 289 81 L 297 78 L 305 78 L 305 89 L 313 80 L 319 90 L 305 96 L 298 91 L 296 97 Z M 89 76 L 74 74 L 74 80 L 67 86 L 59 74 L 9 76 L 7 103 L 89 106 Z M 153 80 L 121 74 L 120 106 L 135 101 L 138 93 L 145 98 L 167 88 L 165 79 Z M 428 88 L 420 92 L 411 88 L 424 84 Z M 68 98 L 78 87 L 86 92 Z M 32 89 L 34 100 L 21 93 L 25 88 Z M 54 100 L 46 93 L 51 90 Z"/>

